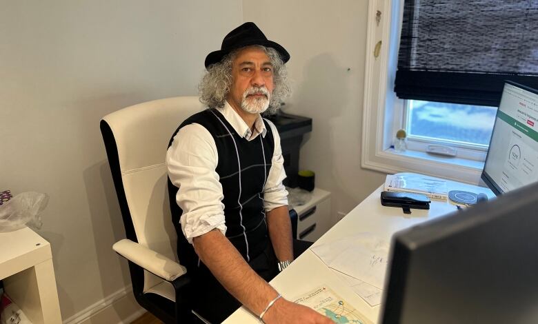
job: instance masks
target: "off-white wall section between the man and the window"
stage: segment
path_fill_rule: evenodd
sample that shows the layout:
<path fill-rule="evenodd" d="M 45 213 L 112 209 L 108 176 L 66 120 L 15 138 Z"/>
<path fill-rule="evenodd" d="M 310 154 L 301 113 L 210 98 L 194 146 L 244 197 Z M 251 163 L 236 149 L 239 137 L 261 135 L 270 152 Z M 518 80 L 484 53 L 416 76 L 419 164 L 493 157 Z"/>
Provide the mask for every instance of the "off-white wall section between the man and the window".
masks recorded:
<path fill-rule="evenodd" d="M 332 192 L 332 217 L 349 212 L 385 179 L 360 167 L 366 0 L 243 0 L 243 21 L 290 52 L 294 93 L 285 112 L 312 117 L 299 168 Z"/>

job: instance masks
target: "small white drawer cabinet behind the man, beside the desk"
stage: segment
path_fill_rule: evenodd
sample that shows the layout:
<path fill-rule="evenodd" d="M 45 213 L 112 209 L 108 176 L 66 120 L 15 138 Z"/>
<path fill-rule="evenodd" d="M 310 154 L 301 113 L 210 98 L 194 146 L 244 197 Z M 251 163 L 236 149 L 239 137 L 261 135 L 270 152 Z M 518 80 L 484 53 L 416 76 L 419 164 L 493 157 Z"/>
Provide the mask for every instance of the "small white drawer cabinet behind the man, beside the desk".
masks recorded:
<path fill-rule="evenodd" d="M 315 188 L 311 198 L 297 212 L 297 239 L 314 242 L 330 228 L 330 192 Z"/>

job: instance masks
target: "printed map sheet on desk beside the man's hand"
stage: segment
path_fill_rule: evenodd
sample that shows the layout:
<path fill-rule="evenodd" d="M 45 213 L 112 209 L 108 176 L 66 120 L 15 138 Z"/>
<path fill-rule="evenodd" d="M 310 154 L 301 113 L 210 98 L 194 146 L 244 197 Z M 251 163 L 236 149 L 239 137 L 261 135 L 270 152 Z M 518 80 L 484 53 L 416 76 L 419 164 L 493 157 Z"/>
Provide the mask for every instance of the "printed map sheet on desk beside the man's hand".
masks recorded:
<path fill-rule="evenodd" d="M 335 323 L 372 323 L 326 286 L 316 288 L 312 292 L 296 298 L 294 302 L 316 310 Z"/>

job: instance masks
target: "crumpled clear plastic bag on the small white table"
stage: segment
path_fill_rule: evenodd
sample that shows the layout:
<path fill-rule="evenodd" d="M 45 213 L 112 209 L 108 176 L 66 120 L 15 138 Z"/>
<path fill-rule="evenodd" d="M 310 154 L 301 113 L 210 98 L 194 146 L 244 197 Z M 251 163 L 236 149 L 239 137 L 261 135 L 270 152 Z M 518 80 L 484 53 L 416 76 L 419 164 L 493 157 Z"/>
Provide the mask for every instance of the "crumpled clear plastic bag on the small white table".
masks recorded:
<path fill-rule="evenodd" d="M 40 213 L 48 203 L 48 194 L 23 192 L 0 205 L 0 233 L 19 230 L 25 225 L 39 230 Z"/>

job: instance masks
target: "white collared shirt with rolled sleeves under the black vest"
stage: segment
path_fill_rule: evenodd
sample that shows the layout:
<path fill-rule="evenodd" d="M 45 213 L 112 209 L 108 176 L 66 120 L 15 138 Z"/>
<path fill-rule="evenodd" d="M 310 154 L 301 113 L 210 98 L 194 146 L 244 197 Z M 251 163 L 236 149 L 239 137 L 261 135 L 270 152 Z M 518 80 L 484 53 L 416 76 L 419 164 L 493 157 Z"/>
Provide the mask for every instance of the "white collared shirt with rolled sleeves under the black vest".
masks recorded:
<path fill-rule="evenodd" d="M 243 139 L 252 141 L 257 136 L 266 136 L 265 123 L 258 115 L 254 132 L 241 119 L 228 102 L 217 108 L 224 118 Z M 283 167 L 280 136 L 275 125 L 268 121 L 275 139 L 271 168 L 263 188 L 263 208 L 266 212 L 288 205 L 288 192 L 282 184 L 286 178 Z M 217 146 L 210 132 L 198 123 L 186 125 L 174 137 L 166 152 L 166 165 L 170 181 L 179 188 L 176 202 L 183 210 L 181 230 L 192 244 L 196 236 L 206 234 L 215 228 L 226 234 L 223 192 L 216 172 L 219 156 Z"/>

